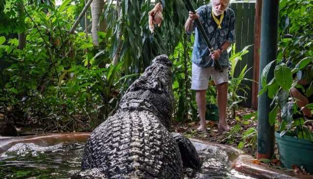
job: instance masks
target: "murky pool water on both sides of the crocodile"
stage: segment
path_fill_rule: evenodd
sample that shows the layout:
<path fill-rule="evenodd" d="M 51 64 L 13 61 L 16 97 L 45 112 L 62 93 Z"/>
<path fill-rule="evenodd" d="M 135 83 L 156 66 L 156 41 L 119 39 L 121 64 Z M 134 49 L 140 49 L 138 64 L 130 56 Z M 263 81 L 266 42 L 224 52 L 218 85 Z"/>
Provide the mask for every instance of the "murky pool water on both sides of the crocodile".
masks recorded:
<path fill-rule="evenodd" d="M 228 170 L 228 157 L 216 146 L 194 143 L 201 160 L 199 171 L 185 169 L 185 179 L 253 179 Z M 80 170 L 84 144 L 49 147 L 19 143 L 0 155 L 0 179 L 68 179 Z"/>

